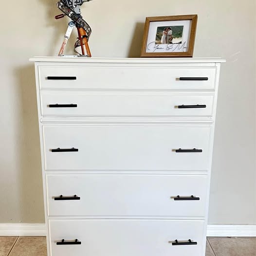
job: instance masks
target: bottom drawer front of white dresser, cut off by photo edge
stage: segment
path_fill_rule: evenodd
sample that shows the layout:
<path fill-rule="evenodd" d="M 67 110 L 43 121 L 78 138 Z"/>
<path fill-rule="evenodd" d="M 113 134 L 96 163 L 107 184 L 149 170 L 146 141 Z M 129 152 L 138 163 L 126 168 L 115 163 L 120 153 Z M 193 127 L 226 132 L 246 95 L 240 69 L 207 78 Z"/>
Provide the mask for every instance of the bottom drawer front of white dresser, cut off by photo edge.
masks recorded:
<path fill-rule="evenodd" d="M 203 221 L 52 219 L 49 222 L 52 256 L 204 255 Z M 65 244 L 75 239 L 76 244 Z M 191 239 L 197 244 L 172 245 L 176 239 Z"/>

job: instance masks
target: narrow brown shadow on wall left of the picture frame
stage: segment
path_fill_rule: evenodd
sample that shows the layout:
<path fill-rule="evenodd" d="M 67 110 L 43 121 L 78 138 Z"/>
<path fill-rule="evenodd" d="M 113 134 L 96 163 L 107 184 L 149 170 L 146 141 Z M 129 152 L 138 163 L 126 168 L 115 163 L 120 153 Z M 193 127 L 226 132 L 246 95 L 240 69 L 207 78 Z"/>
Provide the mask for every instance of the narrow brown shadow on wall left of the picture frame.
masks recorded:
<path fill-rule="evenodd" d="M 129 58 L 139 58 L 141 56 L 144 27 L 145 27 L 145 23 L 142 23 L 142 22 L 136 23 L 133 37 L 130 44 L 129 53 L 128 53 Z"/>

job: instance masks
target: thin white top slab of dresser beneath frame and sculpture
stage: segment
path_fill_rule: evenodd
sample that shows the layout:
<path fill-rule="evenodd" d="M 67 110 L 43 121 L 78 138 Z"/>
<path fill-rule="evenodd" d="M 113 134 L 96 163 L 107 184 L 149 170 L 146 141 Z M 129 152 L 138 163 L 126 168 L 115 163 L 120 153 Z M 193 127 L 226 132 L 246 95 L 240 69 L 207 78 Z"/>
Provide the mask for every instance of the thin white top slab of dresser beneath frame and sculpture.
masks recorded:
<path fill-rule="evenodd" d="M 87 57 L 33 57 L 33 62 L 73 63 L 220 63 L 222 58 L 87 58 Z"/>

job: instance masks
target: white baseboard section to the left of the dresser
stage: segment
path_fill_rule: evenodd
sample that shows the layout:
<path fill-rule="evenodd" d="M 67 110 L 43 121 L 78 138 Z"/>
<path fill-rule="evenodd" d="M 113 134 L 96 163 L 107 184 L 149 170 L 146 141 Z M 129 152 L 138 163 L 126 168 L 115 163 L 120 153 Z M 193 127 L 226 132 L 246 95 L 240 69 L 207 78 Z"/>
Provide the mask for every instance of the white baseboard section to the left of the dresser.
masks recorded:
<path fill-rule="evenodd" d="M 0 223 L 0 237 L 46 236 L 45 224 Z"/>

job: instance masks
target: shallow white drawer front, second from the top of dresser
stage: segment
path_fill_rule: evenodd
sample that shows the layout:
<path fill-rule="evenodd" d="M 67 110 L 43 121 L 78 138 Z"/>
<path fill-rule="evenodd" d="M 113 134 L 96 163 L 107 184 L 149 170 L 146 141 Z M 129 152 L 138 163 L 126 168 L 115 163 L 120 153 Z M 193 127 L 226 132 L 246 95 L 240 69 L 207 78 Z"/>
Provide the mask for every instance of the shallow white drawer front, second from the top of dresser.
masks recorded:
<path fill-rule="evenodd" d="M 44 116 L 211 116 L 214 96 L 41 91 Z"/>

